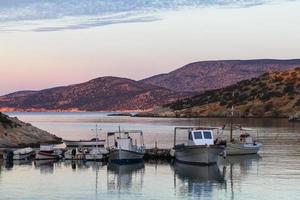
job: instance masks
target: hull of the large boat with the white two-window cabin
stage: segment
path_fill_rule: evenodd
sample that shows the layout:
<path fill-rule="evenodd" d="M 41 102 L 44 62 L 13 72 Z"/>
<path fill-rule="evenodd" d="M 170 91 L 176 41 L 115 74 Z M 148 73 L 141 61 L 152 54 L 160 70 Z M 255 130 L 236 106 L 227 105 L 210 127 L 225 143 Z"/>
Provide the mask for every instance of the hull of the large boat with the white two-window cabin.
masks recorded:
<path fill-rule="evenodd" d="M 210 165 L 217 163 L 223 151 L 223 146 L 216 145 L 183 146 L 175 149 L 175 159 L 188 164 Z"/>

